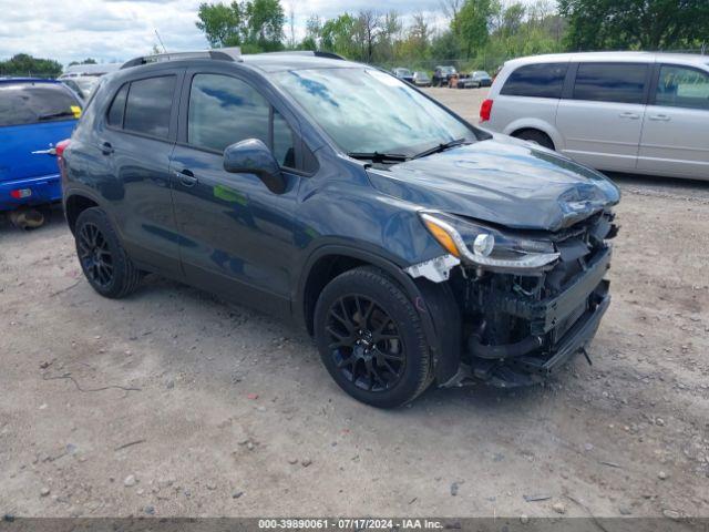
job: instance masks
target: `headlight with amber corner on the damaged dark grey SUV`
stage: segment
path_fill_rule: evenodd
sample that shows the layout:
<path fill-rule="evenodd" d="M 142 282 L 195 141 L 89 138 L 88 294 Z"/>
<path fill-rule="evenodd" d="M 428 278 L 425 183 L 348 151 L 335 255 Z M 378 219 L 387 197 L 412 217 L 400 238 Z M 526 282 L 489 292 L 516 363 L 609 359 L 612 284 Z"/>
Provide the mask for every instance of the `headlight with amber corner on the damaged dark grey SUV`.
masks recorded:
<path fill-rule="evenodd" d="M 524 272 L 547 269 L 559 256 L 547 241 L 513 236 L 444 213 L 421 212 L 420 216 L 439 244 L 467 264 Z"/>

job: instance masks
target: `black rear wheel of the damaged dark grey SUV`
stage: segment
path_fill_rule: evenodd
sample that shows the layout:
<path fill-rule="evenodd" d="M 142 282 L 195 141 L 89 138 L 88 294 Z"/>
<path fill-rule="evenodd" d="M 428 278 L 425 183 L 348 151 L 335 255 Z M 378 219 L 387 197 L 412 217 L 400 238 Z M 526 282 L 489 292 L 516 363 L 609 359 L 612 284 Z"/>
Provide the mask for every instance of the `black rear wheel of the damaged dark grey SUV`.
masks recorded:
<path fill-rule="evenodd" d="M 91 287 L 104 297 L 125 297 L 137 288 L 141 272 L 133 265 L 105 213 L 83 211 L 74 231 L 79 263 Z"/>

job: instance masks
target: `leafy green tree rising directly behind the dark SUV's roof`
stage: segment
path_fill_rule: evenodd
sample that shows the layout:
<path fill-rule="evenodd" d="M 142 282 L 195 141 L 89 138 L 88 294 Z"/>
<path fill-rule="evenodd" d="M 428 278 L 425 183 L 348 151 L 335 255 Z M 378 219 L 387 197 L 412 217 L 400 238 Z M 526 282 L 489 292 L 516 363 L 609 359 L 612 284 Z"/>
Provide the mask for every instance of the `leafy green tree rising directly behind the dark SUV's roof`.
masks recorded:
<path fill-rule="evenodd" d="M 196 25 L 213 48 L 242 47 L 245 53 L 282 50 L 286 14 L 279 0 L 202 3 Z"/>

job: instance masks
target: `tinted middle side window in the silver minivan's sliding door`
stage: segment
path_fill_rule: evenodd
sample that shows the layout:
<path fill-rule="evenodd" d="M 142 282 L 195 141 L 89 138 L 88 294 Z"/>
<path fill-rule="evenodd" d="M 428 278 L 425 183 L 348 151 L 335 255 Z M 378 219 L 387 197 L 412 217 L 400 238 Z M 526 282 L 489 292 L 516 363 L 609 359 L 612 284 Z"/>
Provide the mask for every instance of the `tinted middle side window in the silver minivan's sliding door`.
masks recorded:
<path fill-rule="evenodd" d="M 647 64 L 580 63 L 574 100 L 643 103 L 647 69 Z"/>

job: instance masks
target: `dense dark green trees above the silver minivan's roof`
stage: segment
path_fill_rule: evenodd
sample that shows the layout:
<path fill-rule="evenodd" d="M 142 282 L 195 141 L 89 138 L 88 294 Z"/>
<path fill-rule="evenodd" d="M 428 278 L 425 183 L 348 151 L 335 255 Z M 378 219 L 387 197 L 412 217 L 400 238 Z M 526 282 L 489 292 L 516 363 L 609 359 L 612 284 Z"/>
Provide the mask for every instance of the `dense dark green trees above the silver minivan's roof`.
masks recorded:
<path fill-rule="evenodd" d="M 707 0 L 559 0 L 572 50 L 699 47 L 709 34 Z"/>

